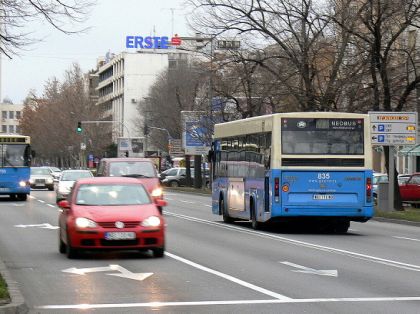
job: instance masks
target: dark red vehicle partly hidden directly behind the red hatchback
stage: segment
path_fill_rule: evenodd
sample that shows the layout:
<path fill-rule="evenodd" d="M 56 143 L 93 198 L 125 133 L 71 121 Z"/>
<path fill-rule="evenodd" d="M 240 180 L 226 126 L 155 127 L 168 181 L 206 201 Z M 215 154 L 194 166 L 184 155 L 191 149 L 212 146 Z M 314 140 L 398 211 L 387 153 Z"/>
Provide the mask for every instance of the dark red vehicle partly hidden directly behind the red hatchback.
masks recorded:
<path fill-rule="evenodd" d="M 96 173 L 98 177 L 132 177 L 142 183 L 153 198 L 163 198 L 158 173 L 148 158 L 103 158 Z"/>

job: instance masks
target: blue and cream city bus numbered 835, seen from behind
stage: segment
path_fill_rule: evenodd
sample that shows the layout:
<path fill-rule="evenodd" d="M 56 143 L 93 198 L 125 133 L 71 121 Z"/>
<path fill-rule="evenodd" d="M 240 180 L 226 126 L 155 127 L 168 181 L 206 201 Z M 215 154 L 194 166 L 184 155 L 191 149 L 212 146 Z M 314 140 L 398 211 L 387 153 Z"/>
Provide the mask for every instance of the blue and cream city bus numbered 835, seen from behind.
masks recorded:
<path fill-rule="evenodd" d="M 373 215 L 365 114 L 278 113 L 216 124 L 212 211 L 225 222 L 305 218 L 330 231 Z"/>

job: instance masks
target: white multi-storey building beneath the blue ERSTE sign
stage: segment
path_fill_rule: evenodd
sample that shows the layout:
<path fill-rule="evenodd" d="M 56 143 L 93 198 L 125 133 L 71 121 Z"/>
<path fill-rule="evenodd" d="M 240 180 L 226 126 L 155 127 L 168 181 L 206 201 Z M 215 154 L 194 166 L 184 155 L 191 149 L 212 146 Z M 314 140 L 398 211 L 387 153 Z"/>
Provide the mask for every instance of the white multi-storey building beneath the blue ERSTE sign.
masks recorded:
<path fill-rule="evenodd" d="M 117 137 L 143 137 L 143 117 L 138 104 L 149 93 L 159 74 L 186 59 L 186 52 L 175 50 L 140 50 L 113 55 L 98 69 L 98 106 L 103 119 L 116 121 L 113 140 Z M 176 62 L 175 62 L 176 63 Z"/>

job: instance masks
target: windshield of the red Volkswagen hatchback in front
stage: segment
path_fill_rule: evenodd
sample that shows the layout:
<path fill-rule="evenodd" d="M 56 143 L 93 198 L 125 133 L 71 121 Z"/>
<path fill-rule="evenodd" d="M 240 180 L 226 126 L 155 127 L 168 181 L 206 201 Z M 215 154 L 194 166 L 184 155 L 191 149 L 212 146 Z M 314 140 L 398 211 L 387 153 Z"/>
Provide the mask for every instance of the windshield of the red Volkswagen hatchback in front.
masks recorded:
<path fill-rule="evenodd" d="M 140 184 L 82 184 L 76 204 L 90 206 L 143 205 L 151 200 Z"/>

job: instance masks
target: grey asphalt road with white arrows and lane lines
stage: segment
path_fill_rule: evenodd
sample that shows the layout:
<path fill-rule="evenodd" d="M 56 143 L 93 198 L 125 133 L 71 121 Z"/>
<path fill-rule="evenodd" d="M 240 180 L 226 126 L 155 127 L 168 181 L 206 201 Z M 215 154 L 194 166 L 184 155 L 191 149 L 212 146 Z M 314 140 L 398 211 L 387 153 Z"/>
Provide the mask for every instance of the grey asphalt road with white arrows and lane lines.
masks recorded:
<path fill-rule="evenodd" d="M 224 224 L 210 197 L 167 193 L 167 252 L 58 253 L 55 194 L 0 198 L 0 257 L 31 313 L 419 313 L 420 229 Z M 134 279 L 133 279 L 134 278 Z"/>

